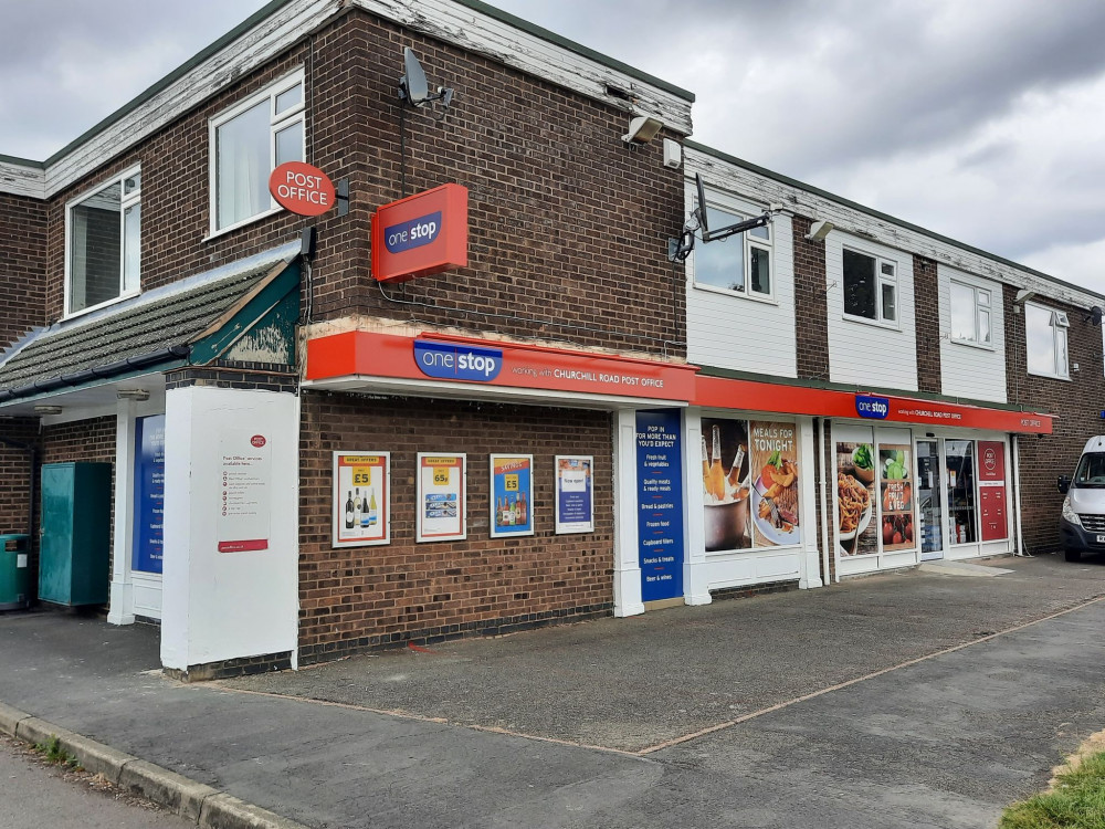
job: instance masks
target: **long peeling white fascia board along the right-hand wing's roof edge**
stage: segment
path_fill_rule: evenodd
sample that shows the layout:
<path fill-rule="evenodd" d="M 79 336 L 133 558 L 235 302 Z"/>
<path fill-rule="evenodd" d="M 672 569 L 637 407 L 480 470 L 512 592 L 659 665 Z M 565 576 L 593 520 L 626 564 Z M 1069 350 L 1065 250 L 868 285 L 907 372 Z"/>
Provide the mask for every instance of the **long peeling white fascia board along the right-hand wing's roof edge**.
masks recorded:
<path fill-rule="evenodd" d="M 1053 282 L 692 147 L 683 148 L 683 158 L 684 171 L 691 181 L 695 172 L 701 172 L 707 187 L 732 192 L 755 202 L 780 203 L 796 213 L 830 221 L 835 230 L 853 233 L 905 253 L 916 253 L 964 273 L 983 276 L 1014 287 L 1029 287 L 1042 296 L 1084 308 L 1102 304 L 1102 297 L 1096 294 Z"/>

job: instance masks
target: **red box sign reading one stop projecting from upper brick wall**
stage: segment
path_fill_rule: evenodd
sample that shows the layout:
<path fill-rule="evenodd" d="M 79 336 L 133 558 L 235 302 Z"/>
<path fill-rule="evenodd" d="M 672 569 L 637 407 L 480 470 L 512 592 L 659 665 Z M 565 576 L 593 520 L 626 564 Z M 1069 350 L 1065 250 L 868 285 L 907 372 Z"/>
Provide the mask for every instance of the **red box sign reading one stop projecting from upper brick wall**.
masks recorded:
<path fill-rule="evenodd" d="M 469 264 L 469 191 L 460 185 L 385 204 L 372 217 L 372 276 L 406 282 Z"/>

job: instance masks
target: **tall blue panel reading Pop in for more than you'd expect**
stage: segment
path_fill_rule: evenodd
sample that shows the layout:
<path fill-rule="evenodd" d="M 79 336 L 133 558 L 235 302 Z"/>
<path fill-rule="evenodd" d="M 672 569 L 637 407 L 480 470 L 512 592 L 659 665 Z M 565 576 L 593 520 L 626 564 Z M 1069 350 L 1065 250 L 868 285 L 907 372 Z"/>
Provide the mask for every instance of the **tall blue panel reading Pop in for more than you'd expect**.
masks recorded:
<path fill-rule="evenodd" d="M 677 409 L 636 413 L 641 600 L 683 596 L 683 464 Z"/>

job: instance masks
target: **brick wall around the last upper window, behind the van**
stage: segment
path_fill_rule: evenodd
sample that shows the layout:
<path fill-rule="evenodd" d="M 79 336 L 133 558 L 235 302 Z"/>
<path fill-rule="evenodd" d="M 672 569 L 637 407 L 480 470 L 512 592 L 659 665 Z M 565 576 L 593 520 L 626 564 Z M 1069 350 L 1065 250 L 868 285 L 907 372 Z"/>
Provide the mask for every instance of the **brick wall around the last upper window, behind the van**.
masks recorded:
<path fill-rule="evenodd" d="M 1102 365 L 1102 329 L 1084 322 L 1086 312 L 1064 303 L 1040 300 L 1039 304 L 1065 311 L 1071 321 L 1067 333 L 1071 380 L 1030 375 L 1024 346 L 1024 314 L 1014 309 L 1017 288 L 1004 286 L 1006 374 L 1009 401 L 1033 411 L 1055 414 L 1054 433 L 1042 438 L 1021 437 L 1021 523 L 1030 553 L 1056 549 L 1059 515 L 1063 496 L 1055 479 L 1070 475 L 1086 440 L 1105 434 L 1105 367 Z M 1074 371 L 1074 364 L 1078 371 Z"/>

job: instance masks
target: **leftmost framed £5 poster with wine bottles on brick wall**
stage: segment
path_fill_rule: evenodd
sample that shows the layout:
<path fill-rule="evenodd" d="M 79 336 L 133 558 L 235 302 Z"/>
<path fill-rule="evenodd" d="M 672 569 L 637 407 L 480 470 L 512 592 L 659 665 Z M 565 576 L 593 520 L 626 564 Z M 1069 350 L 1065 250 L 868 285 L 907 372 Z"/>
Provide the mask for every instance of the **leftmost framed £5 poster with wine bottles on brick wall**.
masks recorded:
<path fill-rule="evenodd" d="M 335 547 L 391 542 L 391 453 L 334 453 Z"/>

